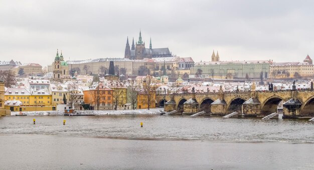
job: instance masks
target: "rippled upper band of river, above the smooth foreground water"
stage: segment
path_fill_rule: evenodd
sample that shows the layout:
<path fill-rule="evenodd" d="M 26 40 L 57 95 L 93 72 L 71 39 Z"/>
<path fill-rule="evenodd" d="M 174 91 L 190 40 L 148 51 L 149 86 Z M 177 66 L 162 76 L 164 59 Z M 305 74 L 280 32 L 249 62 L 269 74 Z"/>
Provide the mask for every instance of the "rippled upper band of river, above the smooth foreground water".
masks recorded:
<path fill-rule="evenodd" d="M 62 124 L 63 119 L 67 120 L 66 125 Z M 140 127 L 141 121 L 143 127 Z M 0 119 L 0 133 L 3 134 L 313 142 L 313 131 L 314 123 L 308 121 L 256 118 L 105 115 L 7 116 Z"/>

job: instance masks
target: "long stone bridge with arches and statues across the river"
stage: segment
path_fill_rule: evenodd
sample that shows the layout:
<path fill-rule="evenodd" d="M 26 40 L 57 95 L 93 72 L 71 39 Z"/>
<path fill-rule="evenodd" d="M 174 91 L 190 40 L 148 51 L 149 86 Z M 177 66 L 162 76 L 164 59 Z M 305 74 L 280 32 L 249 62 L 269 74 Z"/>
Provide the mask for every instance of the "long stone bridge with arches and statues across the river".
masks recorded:
<path fill-rule="evenodd" d="M 176 93 L 156 95 L 158 106 L 165 111 L 179 110 L 192 114 L 201 110 L 211 115 L 225 115 L 233 111 L 243 116 L 265 116 L 277 112 L 283 100 L 283 118 L 314 116 L 313 90 L 237 91 L 208 93 Z"/>

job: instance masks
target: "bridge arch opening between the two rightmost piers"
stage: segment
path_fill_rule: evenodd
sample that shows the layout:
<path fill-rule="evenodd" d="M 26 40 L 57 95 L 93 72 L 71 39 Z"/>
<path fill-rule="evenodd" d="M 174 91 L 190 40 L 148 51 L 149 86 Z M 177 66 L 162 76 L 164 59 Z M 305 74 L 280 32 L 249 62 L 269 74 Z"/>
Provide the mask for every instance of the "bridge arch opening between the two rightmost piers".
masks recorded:
<path fill-rule="evenodd" d="M 277 107 L 280 101 L 284 100 L 282 97 L 278 95 L 273 95 L 265 99 L 261 106 L 262 114 L 270 114 L 273 112 L 277 112 Z"/>

